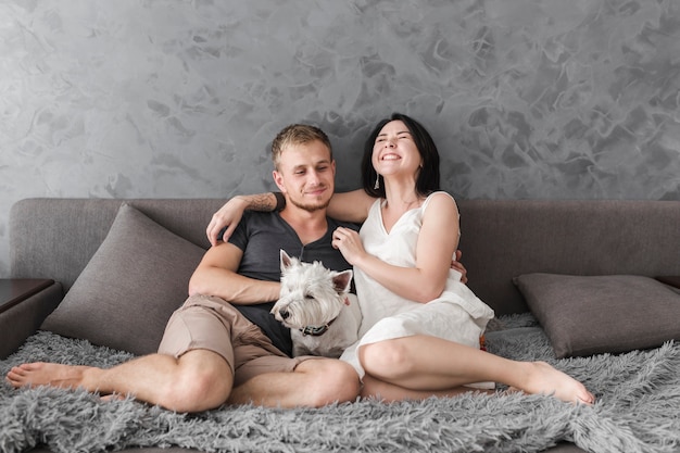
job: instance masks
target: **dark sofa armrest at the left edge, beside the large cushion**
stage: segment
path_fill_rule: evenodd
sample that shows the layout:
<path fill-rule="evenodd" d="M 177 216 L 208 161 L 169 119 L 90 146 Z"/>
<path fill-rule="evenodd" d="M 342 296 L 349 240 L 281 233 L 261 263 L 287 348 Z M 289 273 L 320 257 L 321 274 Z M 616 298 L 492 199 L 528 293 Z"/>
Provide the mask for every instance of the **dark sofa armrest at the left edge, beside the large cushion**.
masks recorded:
<path fill-rule="evenodd" d="M 15 352 L 34 335 L 63 298 L 61 284 L 53 282 L 43 290 L 5 306 L 0 312 L 0 358 Z"/>

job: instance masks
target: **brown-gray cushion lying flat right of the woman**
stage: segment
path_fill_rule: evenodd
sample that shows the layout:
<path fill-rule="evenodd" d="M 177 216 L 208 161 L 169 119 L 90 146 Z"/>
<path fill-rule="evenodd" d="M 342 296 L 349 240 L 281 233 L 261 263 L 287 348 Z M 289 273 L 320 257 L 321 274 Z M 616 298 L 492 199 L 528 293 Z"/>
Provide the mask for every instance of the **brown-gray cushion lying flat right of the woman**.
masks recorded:
<path fill-rule="evenodd" d="M 619 353 L 680 339 L 680 294 L 632 275 L 514 279 L 557 357 Z"/>

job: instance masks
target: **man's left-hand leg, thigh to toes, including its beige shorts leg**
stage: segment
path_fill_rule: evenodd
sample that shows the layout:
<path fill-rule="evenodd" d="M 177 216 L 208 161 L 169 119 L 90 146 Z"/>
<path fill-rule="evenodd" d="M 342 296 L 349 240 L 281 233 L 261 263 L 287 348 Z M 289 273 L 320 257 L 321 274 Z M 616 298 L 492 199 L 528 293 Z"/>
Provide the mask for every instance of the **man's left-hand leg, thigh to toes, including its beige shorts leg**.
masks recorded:
<path fill-rule="evenodd" d="M 201 295 L 187 299 L 167 322 L 158 354 L 112 368 L 52 363 L 12 368 L 14 387 L 81 387 L 103 394 L 130 394 L 177 412 L 198 412 L 223 404 L 234 385 L 232 318 L 215 307 L 226 302 Z"/>

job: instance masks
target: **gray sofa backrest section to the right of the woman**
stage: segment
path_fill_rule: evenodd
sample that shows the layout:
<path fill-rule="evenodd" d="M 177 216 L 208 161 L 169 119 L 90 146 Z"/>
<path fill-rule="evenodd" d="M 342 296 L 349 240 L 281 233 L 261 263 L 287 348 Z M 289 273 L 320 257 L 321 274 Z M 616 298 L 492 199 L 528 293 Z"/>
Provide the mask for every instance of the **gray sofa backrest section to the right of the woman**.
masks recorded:
<path fill-rule="evenodd" d="M 470 289 L 496 314 L 527 311 L 513 277 L 680 275 L 680 201 L 458 203 Z"/>

